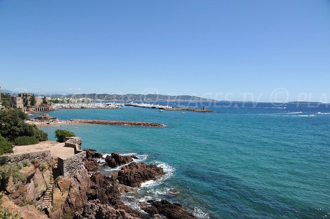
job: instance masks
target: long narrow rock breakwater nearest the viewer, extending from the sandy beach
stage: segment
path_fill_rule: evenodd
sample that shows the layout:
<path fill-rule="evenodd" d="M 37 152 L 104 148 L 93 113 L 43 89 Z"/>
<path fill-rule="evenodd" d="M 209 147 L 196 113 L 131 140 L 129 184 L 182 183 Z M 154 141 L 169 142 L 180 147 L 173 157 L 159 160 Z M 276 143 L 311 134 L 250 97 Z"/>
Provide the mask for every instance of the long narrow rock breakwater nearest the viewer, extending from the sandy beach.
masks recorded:
<path fill-rule="evenodd" d="M 130 121 L 110 121 L 110 120 L 70 120 L 73 123 L 101 124 L 101 125 L 128 125 L 128 126 L 148 126 L 163 127 L 165 125 L 153 122 L 130 122 Z"/>

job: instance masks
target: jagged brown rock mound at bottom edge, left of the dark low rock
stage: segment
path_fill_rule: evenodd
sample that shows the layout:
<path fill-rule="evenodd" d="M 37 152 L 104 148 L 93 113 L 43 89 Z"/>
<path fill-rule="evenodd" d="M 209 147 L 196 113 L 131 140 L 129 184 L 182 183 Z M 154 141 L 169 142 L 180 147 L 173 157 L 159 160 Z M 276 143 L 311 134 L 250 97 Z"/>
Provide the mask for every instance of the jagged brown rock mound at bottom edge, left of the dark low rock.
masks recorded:
<path fill-rule="evenodd" d="M 140 219 L 141 217 L 133 217 L 124 210 L 116 210 L 115 208 L 101 204 L 98 200 L 89 201 L 84 204 L 81 212 L 76 212 L 74 219 Z"/>

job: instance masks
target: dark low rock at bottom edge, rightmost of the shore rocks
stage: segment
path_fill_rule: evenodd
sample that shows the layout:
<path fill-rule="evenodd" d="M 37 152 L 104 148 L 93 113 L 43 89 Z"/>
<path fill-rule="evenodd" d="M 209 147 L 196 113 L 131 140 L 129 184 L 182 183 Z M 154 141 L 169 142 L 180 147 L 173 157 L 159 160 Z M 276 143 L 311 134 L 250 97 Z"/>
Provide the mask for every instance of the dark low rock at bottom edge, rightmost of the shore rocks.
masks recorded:
<path fill-rule="evenodd" d="M 166 216 L 168 219 L 197 219 L 197 217 L 188 213 L 179 203 L 170 203 L 167 200 L 149 200 L 148 203 L 150 203 L 151 206 L 145 206 L 143 210 L 150 214 L 159 213 Z"/>

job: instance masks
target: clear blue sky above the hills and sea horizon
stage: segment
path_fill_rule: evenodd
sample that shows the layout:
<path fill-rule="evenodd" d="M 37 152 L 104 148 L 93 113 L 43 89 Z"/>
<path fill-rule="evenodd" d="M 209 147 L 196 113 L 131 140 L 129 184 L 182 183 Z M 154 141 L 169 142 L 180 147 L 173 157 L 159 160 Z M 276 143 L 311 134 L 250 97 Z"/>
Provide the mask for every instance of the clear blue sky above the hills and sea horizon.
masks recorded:
<path fill-rule="evenodd" d="M 0 0 L 3 89 L 330 102 L 329 82 L 329 0 Z"/>

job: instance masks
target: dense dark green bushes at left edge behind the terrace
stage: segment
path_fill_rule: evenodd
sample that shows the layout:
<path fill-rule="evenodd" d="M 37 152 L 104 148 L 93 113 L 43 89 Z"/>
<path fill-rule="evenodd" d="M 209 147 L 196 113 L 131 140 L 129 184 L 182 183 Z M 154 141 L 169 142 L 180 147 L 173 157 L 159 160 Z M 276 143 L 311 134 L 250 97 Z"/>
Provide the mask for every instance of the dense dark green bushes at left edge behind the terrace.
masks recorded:
<path fill-rule="evenodd" d="M 35 136 L 39 141 L 48 140 L 47 133 L 24 120 L 28 120 L 28 116 L 19 109 L 0 111 L 0 134 L 8 141 L 14 141 L 20 136 Z"/>

